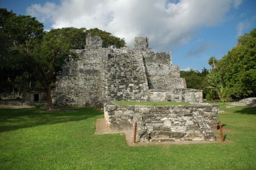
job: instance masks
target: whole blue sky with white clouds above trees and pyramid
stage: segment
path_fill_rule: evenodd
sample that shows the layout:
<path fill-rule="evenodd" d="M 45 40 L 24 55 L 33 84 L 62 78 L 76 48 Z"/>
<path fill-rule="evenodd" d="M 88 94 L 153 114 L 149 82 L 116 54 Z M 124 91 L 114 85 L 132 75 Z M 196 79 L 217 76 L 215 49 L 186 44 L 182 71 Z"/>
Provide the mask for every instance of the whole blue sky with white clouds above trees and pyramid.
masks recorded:
<path fill-rule="evenodd" d="M 221 59 L 256 28 L 255 0 L 0 0 L 0 8 L 36 17 L 45 30 L 98 27 L 129 47 L 148 36 L 149 47 L 172 52 L 180 70 L 209 69 L 211 56 Z"/>

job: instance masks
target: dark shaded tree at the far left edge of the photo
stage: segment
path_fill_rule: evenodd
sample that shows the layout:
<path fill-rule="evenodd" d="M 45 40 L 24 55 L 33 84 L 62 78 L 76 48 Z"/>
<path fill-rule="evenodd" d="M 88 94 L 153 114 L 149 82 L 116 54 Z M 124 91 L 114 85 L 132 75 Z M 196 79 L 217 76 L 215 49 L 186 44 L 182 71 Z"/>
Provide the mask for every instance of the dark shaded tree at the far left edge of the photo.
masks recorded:
<path fill-rule="evenodd" d="M 31 70 L 31 61 L 20 51 L 28 45 L 29 41 L 42 38 L 43 31 L 43 24 L 34 17 L 17 16 L 12 11 L 0 9 L 1 84 L 10 86 L 6 83 L 9 81 L 14 91 L 15 81 L 24 72 Z M 6 91 L 6 88 L 1 86 L 0 91 Z"/>

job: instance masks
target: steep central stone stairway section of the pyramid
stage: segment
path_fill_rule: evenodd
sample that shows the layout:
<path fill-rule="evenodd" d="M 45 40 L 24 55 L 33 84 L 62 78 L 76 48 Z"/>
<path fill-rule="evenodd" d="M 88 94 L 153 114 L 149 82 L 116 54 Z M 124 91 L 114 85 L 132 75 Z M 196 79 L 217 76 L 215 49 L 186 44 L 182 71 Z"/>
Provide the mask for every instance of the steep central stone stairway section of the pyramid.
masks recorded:
<path fill-rule="evenodd" d="M 128 48 L 113 49 L 104 66 L 104 101 L 147 100 L 147 75 L 141 55 Z"/>

